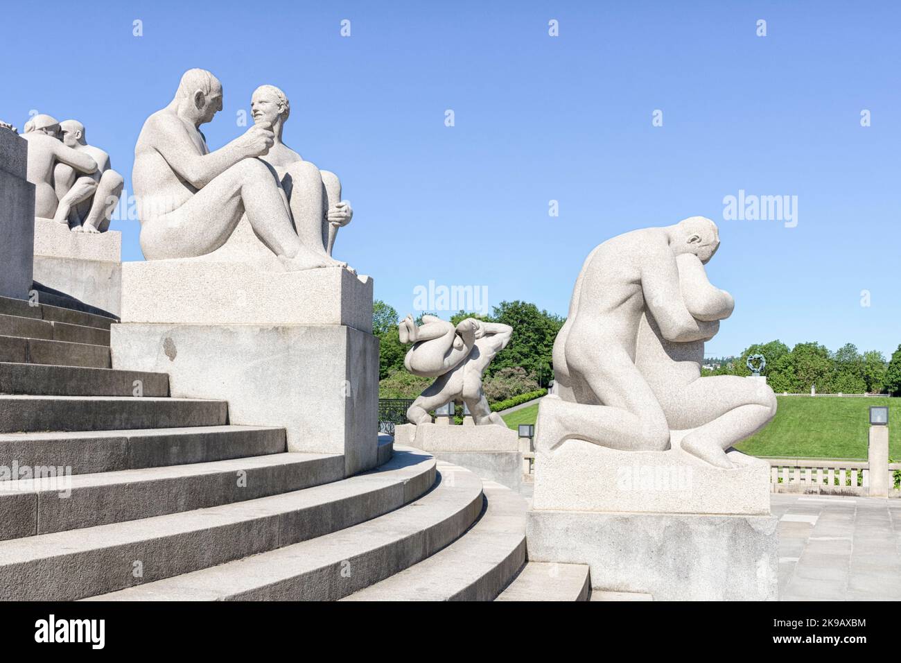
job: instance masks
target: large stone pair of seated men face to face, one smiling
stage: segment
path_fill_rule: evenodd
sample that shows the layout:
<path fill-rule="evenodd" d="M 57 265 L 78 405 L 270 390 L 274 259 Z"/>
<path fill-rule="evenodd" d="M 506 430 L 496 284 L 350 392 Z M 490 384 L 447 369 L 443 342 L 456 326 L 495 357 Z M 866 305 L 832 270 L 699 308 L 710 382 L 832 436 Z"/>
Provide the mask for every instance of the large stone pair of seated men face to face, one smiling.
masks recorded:
<path fill-rule="evenodd" d="M 290 106 L 264 85 L 250 101 L 254 124 L 214 152 L 200 125 L 223 108 L 222 83 L 190 69 L 175 98 L 147 119 L 134 148 L 132 181 L 148 260 L 213 253 L 246 216 L 288 271 L 346 267 L 332 258 L 338 228 L 353 212 L 328 170 L 282 142 Z"/>

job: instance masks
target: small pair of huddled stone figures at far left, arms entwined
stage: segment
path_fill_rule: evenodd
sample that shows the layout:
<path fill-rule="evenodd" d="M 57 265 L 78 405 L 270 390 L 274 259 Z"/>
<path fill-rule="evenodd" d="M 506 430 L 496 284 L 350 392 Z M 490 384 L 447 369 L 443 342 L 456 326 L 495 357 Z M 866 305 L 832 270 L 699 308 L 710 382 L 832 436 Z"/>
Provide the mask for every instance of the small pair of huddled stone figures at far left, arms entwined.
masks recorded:
<path fill-rule="evenodd" d="M 34 214 L 77 233 L 103 233 L 122 195 L 122 175 L 109 154 L 86 141 L 85 125 L 34 115 L 26 124 L 27 179 L 34 184 Z"/>

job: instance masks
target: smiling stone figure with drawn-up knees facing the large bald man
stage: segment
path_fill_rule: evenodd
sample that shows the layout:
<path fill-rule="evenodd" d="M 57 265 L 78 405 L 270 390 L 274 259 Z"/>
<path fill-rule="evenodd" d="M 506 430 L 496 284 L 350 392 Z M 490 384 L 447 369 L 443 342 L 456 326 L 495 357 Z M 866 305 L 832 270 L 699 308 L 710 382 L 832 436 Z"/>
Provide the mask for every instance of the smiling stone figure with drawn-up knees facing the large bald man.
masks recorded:
<path fill-rule="evenodd" d="M 338 228 L 347 226 L 353 210 L 341 200 L 341 182 L 330 170 L 319 170 L 282 143 L 291 106 L 284 92 L 274 85 L 262 85 L 250 97 L 250 113 L 254 124 L 271 131 L 274 143 L 260 159 L 278 173 L 278 181 L 289 200 L 297 235 L 306 246 L 320 246 L 329 255 Z"/>

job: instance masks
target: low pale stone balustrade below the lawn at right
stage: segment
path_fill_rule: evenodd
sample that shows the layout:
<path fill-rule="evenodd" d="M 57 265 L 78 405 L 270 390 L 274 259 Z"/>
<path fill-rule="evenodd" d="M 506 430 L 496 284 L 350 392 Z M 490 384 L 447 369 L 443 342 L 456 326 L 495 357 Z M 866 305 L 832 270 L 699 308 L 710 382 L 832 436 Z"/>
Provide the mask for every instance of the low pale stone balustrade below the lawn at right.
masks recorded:
<path fill-rule="evenodd" d="M 769 484 L 773 493 L 869 495 L 870 469 L 865 460 L 817 458 L 764 458 L 769 462 Z M 885 467 L 885 465 L 883 465 Z M 888 464 L 890 497 L 901 497 L 894 488 L 894 473 L 901 463 Z"/>

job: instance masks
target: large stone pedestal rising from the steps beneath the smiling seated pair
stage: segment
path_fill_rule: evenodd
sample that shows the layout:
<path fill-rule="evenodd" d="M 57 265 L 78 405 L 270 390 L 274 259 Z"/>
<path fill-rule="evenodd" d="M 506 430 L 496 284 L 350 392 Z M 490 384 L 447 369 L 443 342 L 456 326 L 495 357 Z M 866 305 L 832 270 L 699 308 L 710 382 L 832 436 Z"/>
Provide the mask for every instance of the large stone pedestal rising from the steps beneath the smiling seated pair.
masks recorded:
<path fill-rule="evenodd" d="M 230 423 L 284 427 L 290 451 L 343 454 L 347 475 L 377 464 L 369 277 L 126 262 L 122 318 L 114 368 L 168 373 L 172 396 L 228 401 Z"/>

